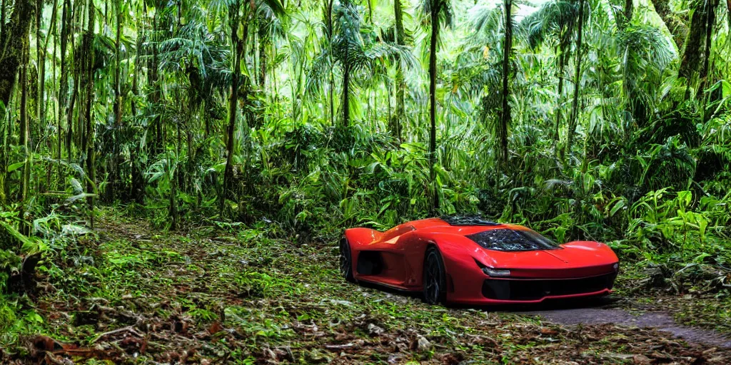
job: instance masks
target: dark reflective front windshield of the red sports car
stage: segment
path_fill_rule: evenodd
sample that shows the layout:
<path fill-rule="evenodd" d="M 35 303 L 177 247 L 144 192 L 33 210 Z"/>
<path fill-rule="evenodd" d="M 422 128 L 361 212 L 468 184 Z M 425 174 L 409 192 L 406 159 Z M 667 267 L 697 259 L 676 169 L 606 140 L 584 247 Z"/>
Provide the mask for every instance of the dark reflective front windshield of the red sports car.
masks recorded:
<path fill-rule="evenodd" d="M 556 242 L 543 237 L 536 231 L 514 230 L 510 228 L 489 229 L 467 238 L 488 250 L 495 251 L 535 251 L 556 250 Z"/>

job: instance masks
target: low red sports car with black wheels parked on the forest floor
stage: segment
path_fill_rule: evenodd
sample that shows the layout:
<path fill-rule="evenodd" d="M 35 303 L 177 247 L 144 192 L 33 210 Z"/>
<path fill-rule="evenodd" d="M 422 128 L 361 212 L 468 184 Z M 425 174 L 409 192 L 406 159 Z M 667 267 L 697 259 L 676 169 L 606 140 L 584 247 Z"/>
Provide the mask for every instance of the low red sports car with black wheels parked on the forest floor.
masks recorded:
<path fill-rule="evenodd" d="M 430 304 L 518 304 L 610 293 L 617 255 L 599 242 L 557 245 L 523 226 L 470 217 L 414 220 L 385 232 L 350 228 L 346 280 L 422 291 Z"/>

